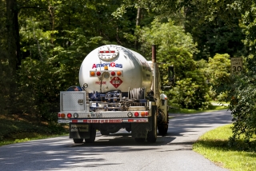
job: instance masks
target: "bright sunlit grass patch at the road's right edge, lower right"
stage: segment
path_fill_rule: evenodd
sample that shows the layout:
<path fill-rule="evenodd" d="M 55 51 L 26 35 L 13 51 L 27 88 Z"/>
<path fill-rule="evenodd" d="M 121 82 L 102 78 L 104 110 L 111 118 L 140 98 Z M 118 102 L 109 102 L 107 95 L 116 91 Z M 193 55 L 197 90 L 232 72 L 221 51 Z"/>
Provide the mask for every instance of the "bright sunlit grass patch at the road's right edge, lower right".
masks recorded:
<path fill-rule="evenodd" d="M 193 150 L 216 165 L 230 170 L 256 170 L 255 152 L 241 151 L 228 145 L 232 135 L 230 126 L 221 126 L 205 133 L 194 143 Z"/>

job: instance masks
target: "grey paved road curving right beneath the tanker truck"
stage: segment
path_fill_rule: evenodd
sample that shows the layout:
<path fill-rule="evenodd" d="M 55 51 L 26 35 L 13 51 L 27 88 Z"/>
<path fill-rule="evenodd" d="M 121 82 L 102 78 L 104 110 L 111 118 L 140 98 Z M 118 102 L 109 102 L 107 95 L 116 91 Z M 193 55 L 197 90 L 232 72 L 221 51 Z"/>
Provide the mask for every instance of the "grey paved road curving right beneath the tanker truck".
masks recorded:
<path fill-rule="evenodd" d="M 170 114 L 171 115 L 171 114 Z M 137 144 L 120 130 L 110 137 L 97 134 L 94 144 L 74 145 L 68 137 L 54 137 L 0 147 L 0 170 L 226 170 L 192 151 L 200 135 L 231 122 L 226 110 L 177 115 L 168 134 L 154 144 Z"/>

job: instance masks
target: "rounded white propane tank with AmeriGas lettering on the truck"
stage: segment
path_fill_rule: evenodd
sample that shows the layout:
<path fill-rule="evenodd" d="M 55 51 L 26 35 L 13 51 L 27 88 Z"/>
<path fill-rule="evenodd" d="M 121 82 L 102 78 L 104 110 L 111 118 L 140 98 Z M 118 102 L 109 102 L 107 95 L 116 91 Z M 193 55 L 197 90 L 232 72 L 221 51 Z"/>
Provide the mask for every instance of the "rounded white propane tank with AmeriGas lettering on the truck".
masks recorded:
<path fill-rule="evenodd" d="M 100 46 L 86 56 L 79 71 L 80 85 L 86 92 L 107 92 L 146 88 L 150 91 L 152 71 L 141 54 L 122 46 Z"/>

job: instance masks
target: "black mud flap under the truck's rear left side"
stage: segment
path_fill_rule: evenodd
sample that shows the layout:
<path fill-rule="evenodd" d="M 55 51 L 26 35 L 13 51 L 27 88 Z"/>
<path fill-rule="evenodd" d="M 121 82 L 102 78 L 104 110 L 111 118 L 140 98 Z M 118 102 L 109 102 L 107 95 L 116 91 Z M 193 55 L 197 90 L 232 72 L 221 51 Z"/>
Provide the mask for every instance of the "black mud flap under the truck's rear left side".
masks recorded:
<path fill-rule="evenodd" d="M 75 139 L 90 138 L 90 125 L 70 123 L 70 138 L 75 138 Z"/>

